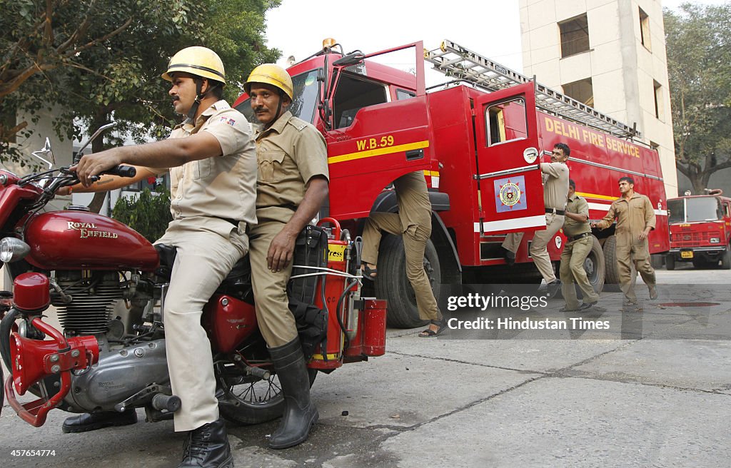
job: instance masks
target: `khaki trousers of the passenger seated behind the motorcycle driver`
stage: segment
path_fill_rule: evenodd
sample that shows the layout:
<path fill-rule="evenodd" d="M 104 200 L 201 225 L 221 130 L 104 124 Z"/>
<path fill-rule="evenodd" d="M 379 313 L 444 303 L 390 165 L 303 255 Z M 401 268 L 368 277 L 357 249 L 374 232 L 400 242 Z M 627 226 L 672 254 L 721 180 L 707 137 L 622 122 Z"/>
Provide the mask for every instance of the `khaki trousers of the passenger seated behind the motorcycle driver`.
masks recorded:
<path fill-rule="evenodd" d="M 287 296 L 292 262 L 276 273 L 267 267 L 269 245 L 285 224 L 281 221 L 265 221 L 249 232 L 251 286 L 257 305 L 257 323 L 269 348 L 286 345 L 298 336 L 295 316 L 289 310 Z"/>

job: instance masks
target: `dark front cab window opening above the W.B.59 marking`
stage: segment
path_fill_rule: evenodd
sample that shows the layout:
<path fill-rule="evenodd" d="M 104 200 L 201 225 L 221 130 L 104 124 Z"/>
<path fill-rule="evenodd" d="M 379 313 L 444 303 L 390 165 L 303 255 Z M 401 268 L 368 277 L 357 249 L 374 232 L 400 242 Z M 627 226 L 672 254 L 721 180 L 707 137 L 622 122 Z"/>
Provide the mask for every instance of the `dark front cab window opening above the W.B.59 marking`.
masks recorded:
<path fill-rule="evenodd" d="M 352 125 L 355 114 L 363 107 L 388 102 L 386 87 L 343 73 L 333 99 L 336 128 Z"/>

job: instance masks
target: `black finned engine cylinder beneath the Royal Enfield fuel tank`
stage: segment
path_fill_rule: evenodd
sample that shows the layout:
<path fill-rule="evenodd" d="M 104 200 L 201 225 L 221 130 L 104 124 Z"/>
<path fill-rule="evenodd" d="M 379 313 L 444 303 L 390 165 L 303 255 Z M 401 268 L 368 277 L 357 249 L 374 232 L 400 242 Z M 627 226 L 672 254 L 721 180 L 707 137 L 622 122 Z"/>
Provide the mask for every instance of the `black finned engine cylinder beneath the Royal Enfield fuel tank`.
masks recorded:
<path fill-rule="evenodd" d="M 51 291 L 51 304 L 67 336 L 106 333 L 115 302 L 122 297 L 118 272 L 57 271 L 62 293 Z"/>

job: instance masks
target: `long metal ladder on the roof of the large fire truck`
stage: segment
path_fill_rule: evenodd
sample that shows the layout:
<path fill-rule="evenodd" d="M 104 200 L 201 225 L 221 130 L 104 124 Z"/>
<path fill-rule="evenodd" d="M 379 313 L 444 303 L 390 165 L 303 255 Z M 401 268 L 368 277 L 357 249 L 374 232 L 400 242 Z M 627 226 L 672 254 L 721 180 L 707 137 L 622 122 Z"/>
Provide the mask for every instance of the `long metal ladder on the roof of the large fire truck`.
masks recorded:
<path fill-rule="evenodd" d="M 424 59 L 433 68 L 447 77 L 455 77 L 479 86 L 487 91 L 498 91 L 513 85 L 529 83 L 529 77 L 502 66 L 489 58 L 472 52 L 466 47 L 444 39 L 441 47 L 424 50 Z M 602 114 L 593 107 L 577 101 L 565 94 L 553 91 L 540 83 L 535 83 L 536 106 L 541 110 L 558 115 L 586 126 L 606 131 L 620 138 L 641 138 L 640 131 L 619 120 Z"/>

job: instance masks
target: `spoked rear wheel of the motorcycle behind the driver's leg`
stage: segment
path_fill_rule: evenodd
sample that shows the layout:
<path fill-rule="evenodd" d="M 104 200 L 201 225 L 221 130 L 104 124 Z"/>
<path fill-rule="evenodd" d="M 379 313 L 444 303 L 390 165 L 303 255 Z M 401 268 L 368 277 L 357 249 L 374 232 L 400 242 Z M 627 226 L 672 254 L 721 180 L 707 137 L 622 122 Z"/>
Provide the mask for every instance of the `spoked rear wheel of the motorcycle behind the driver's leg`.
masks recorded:
<path fill-rule="evenodd" d="M 317 369 L 307 369 L 310 387 L 317 377 Z M 233 364 L 216 364 L 219 386 L 227 388 L 229 399 L 235 404 L 219 404 L 221 416 L 239 424 L 259 424 L 281 417 L 284 413 L 284 397 L 279 377 L 272 370 L 268 380 L 243 373 Z"/>

